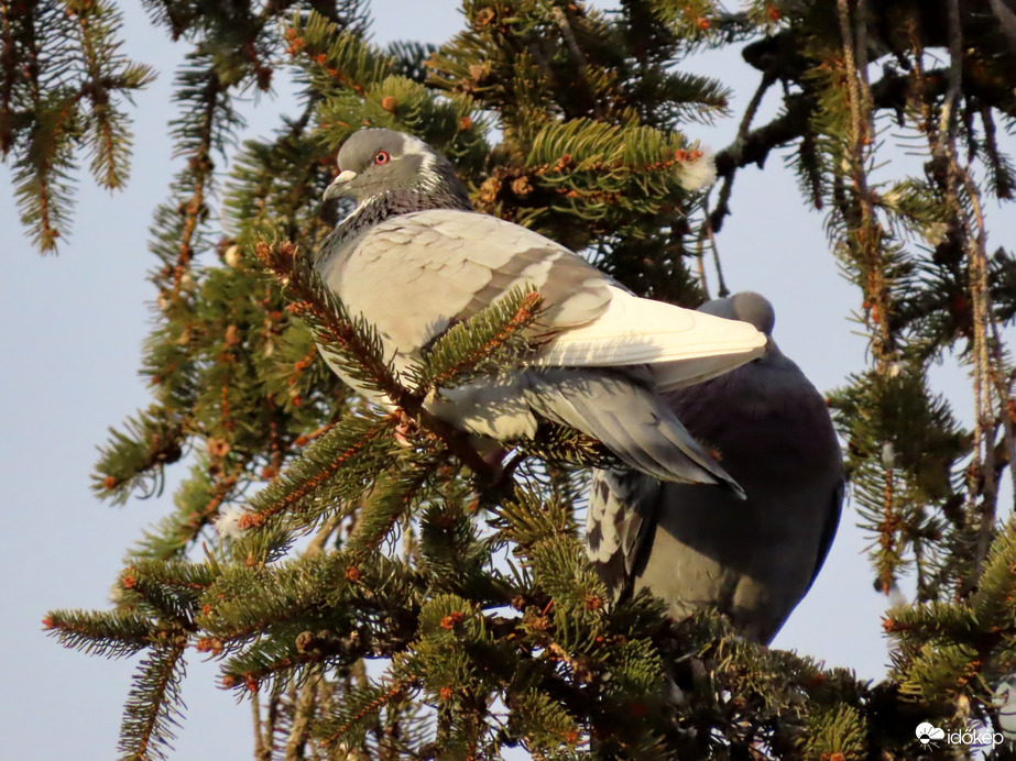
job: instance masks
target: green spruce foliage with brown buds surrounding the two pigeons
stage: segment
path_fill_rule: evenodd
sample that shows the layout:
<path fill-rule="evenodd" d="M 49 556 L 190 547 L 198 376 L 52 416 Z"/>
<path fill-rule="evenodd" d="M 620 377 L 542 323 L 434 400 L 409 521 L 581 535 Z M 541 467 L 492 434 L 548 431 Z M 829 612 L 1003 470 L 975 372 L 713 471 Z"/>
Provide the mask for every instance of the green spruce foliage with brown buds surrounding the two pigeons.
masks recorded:
<path fill-rule="evenodd" d="M 254 703 L 259 759 L 946 758 L 917 724 L 994 731 L 994 685 L 1016 671 L 1016 523 L 998 504 L 1016 479 L 1016 261 L 986 250 L 985 208 L 1016 181 L 1012 3 L 465 0 L 437 48 L 373 44 L 360 0 L 145 7 L 188 51 L 181 168 L 152 228 L 154 398 L 112 432 L 95 489 L 127 501 L 185 454 L 190 471 L 113 607 L 45 619 L 67 647 L 138 657 L 123 758 L 170 754 L 185 663 L 207 654 Z M 151 71 L 118 33 L 102 0 L 0 0 L 0 152 L 43 252 L 68 229 L 83 152 L 97 181 L 127 176 L 122 100 Z M 728 93 L 681 69 L 703 47 L 760 73 L 711 195 L 691 139 Z M 238 96 L 287 77 L 298 111 L 238 147 Z M 777 86 L 780 113 L 756 124 Z M 576 522 L 597 442 L 547 424 L 502 442 L 495 467 L 426 412 L 518 360 L 539 295 L 512 294 L 395 376 L 308 265 L 341 213 L 320 200 L 335 150 L 364 124 L 443 151 L 478 209 L 685 306 L 704 297 L 738 174 L 788 146 L 870 339 L 831 404 L 875 583 L 917 585 L 884 622 L 886 680 L 743 642 L 709 613 L 671 625 L 647 596 L 613 603 Z M 900 135 L 918 175 L 880 166 Z M 397 411 L 351 395 L 315 342 Z M 968 423 L 928 379 L 949 353 L 970 368 Z"/>

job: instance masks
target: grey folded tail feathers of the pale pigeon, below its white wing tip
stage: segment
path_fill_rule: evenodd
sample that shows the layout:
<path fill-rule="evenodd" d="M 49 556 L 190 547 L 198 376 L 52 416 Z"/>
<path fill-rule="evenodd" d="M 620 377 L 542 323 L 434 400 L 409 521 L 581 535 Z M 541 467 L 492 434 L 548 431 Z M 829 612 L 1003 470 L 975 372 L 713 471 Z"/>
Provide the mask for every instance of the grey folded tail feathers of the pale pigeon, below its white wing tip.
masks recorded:
<path fill-rule="evenodd" d="M 535 412 L 599 439 L 630 467 L 659 481 L 725 484 L 743 496 L 664 400 L 623 372 L 547 368 L 526 376 Z"/>

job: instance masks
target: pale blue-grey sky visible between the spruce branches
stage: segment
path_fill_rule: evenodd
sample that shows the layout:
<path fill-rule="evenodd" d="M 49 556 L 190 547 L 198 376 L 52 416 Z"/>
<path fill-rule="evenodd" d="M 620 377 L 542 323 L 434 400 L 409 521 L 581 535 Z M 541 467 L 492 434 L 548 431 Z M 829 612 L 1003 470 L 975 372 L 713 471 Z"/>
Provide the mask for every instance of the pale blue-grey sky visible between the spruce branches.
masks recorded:
<path fill-rule="evenodd" d="M 136 663 L 64 650 L 45 637 L 41 619 L 52 608 L 106 608 L 127 549 L 165 512 L 172 496 L 167 487 L 161 498 L 109 507 L 90 490 L 96 446 L 106 441 L 108 427 L 150 401 L 138 375 L 154 297 L 146 280 L 155 264 L 146 247 L 148 229 L 177 167 L 167 121 L 173 117 L 173 71 L 186 52 L 153 31 L 136 4 L 122 4 L 125 53 L 160 71 L 135 97 L 135 152 L 127 191 L 110 196 L 84 179 L 73 234 L 62 242 L 59 256 L 41 257 L 21 234 L 10 172 L 0 166 L 0 231 L 8 247 L 7 275 L 0 280 L 6 357 L 0 398 L 9 405 L 0 437 L 0 505 L 8 537 L 0 553 L 6 580 L 0 586 L 0 684 L 8 695 L 0 712 L 0 756 L 19 761 L 114 756 Z M 412 0 L 374 0 L 372 7 L 380 43 L 439 43 L 461 25 L 452 0 L 430 0 L 426 13 Z M 756 81 L 733 49 L 699 56 L 684 68 L 734 87 L 734 114 Z M 250 134 L 271 130 L 289 102 L 281 97 L 248 103 Z M 735 131 L 736 117 L 688 128 L 691 137 L 713 148 L 729 144 Z M 891 168 L 907 161 L 902 152 L 893 155 Z M 819 389 L 829 390 L 865 366 L 865 341 L 849 319 L 861 297 L 828 251 L 822 214 L 807 209 L 782 162 L 774 154 L 766 172 L 749 168 L 739 175 L 733 216 L 718 244 L 729 287 L 757 290 L 773 301 L 782 350 Z M 988 214 L 988 249 L 1016 249 L 1016 220 L 999 223 L 997 214 Z M 947 364 L 935 376 L 958 412 L 969 416 L 964 371 Z M 887 603 L 873 589 L 864 556 L 867 541 L 855 521 L 848 504 L 822 573 L 773 647 L 878 679 L 888 660 L 880 620 Z M 192 660 L 183 688 L 186 720 L 172 758 L 251 758 L 250 708 L 237 705 L 216 681 L 214 663 Z"/>

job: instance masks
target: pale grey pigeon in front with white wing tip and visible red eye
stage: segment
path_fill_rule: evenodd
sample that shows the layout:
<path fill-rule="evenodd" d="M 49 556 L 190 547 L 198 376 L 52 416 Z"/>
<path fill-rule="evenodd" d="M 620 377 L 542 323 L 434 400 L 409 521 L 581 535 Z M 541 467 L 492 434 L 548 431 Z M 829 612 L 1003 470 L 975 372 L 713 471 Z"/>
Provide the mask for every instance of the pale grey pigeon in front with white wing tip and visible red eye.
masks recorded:
<path fill-rule="evenodd" d="M 416 137 L 360 130 L 339 151 L 338 165 L 325 199 L 352 198 L 356 208 L 325 241 L 315 267 L 350 313 L 378 329 L 396 373 L 418 362 L 452 324 L 516 286 L 528 284 L 543 296 L 532 357 L 431 394 L 431 412 L 501 441 L 532 437 L 547 419 L 598 439 L 642 473 L 738 488 L 658 391 L 758 356 L 764 335 L 741 322 L 637 298 L 549 239 L 471 211 L 451 164 Z"/>

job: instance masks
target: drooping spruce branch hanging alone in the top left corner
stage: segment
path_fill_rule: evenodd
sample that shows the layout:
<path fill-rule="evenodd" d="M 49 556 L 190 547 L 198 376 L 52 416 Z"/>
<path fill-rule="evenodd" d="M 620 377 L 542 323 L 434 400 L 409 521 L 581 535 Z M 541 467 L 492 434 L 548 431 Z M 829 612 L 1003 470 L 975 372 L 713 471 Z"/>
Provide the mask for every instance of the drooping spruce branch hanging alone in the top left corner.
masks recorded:
<path fill-rule="evenodd" d="M 131 150 L 121 97 L 152 70 L 121 55 L 121 15 L 108 0 L 0 3 L 0 161 L 12 157 L 15 197 L 41 253 L 70 229 L 78 152 L 120 188 Z"/>

